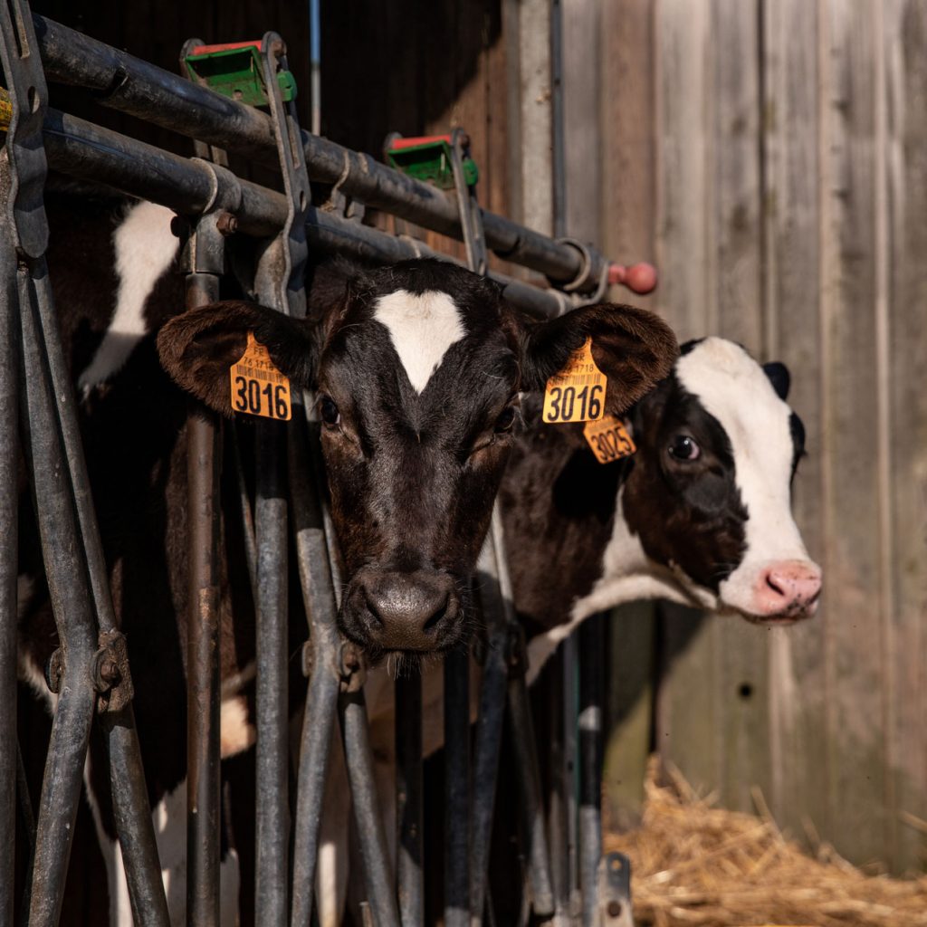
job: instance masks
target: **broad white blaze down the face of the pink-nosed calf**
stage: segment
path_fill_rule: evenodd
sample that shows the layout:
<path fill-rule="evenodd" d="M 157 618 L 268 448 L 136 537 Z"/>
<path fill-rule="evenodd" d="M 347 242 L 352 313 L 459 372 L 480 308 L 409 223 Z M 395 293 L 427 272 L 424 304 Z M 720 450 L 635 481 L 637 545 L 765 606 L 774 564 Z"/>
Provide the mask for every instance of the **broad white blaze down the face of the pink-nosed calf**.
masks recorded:
<path fill-rule="evenodd" d="M 762 367 L 723 338 L 705 338 L 679 358 L 676 375 L 730 440 L 734 480 L 748 515 L 746 549 L 718 591 L 722 606 L 754 612 L 753 590 L 764 566 L 799 560 L 817 568 L 810 563 L 792 516 L 792 410 L 776 395 Z"/>

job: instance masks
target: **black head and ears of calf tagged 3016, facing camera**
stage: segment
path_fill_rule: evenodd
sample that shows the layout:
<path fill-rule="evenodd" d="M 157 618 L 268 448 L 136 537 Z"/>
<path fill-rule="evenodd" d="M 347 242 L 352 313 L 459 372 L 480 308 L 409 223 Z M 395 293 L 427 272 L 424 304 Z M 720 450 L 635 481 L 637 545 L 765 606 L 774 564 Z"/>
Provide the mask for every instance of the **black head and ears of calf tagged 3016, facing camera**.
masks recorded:
<path fill-rule="evenodd" d="M 620 413 L 677 352 L 649 312 L 601 305 L 528 324 L 499 286 L 437 260 L 352 275 L 314 309 L 297 321 L 217 303 L 165 325 L 159 352 L 182 387 L 231 415 L 228 370 L 253 331 L 292 386 L 314 394 L 346 567 L 339 621 L 372 655 L 466 636 L 466 588 L 522 393 L 542 390 L 591 337 L 606 409 Z"/>

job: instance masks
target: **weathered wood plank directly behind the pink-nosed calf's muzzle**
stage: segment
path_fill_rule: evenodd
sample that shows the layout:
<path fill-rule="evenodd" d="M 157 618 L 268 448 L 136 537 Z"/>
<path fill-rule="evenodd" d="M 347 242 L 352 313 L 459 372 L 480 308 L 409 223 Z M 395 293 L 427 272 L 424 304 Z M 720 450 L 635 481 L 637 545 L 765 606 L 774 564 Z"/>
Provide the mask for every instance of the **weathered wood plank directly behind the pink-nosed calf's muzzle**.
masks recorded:
<path fill-rule="evenodd" d="M 807 457 L 793 484 L 806 547 L 820 561 L 822 420 L 819 323 L 818 9 L 805 0 L 763 5 L 766 355 L 793 375 L 789 401 L 806 428 Z M 825 584 L 828 578 L 825 577 Z M 769 634 L 771 793 L 794 834 L 803 819 L 829 830 L 823 666 L 828 616 Z"/>

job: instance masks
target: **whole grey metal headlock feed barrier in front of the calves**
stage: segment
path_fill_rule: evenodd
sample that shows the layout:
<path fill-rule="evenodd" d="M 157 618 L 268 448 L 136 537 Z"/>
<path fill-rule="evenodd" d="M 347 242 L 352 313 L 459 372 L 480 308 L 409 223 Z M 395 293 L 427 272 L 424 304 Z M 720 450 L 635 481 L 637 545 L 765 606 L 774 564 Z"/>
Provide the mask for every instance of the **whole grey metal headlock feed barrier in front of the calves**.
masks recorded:
<path fill-rule="evenodd" d="M 5 535 L 0 546 L 0 743 L 15 743 L 16 736 L 20 426 L 60 641 L 52 661 L 51 684 L 58 698 L 35 823 L 27 922 L 36 927 L 57 923 L 89 732 L 99 715 L 108 746 L 114 817 L 133 918 L 145 927 L 167 927 L 168 910 L 134 729 L 132 680 L 109 596 L 73 391 L 44 261 L 46 158 L 58 171 L 104 181 L 189 218 L 183 248 L 188 308 L 218 298 L 225 238 L 235 228 L 264 239 L 255 274 L 260 301 L 295 317 L 306 312 L 304 276 L 310 248 L 382 262 L 422 255 L 450 260 L 407 236 L 387 235 L 362 225 L 358 210 L 337 209 L 345 197 L 463 240 L 467 265 L 499 280 L 507 298 L 537 315 L 567 311 L 584 297 L 587 301 L 599 298 L 609 282 L 622 282 L 627 274 L 594 248 L 572 239 L 554 240 L 481 210 L 472 183 L 475 175 L 464 170 L 467 139 L 460 130 L 451 135 L 450 145 L 456 197 L 370 156 L 302 132 L 292 93 L 286 89 L 292 89 L 286 48 L 273 32 L 260 44 L 248 44 L 254 47 L 246 56 L 260 64 L 260 80 L 253 89 L 266 105 L 265 113 L 197 83 L 206 72 L 194 66 L 195 53 L 202 45 L 198 40 L 184 45 L 185 77 L 179 77 L 56 22 L 33 17 L 27 0 L 9 0 L 0 6 L 0 30 L 0 56 L 11 105 L 0 159 L 0 196 L 6 210 L 0 231 L 0 524 Z M 47 108 L 43 65 L 52 78 L 95 91 L 96 99 L 106 106 L 189 135 L 199 157 L 173 155 Z M 275 164 L 282 172 L 285 193 L 237 178 L 225 166 L 225 149 Z M 335 209 L 311 205 L 311 179 L 336 184 L 336 194 L 326 204 Z M 558 288 L 541 289 L 489 272 L 488 248 L 505 260 L 545 274 Z M 253 515 L 239 468 L 242 524 L 257 616 L 255 914 L 261 923 L 273 927 L 285 927 L 287 921 L 291 927 L 309 927 L 324 782 L 337 717 L 354 817 L 363 835 L 365 920 L 383 927 L 412 927 L 422 924 L 425 917 L 421 679 L 403 677 L 396 682 L 398 857 L 394 881 L 376 800 L 363 695 L 364 662 L 362 654 L 342 641 L 337 631 L 341 581 L 324 492 L 319 425 L 314 421 L 311 397 L 294 396 L 292 400 L 294 414 L 286 428 L 262 422 L 256 429 Z M 222 423 L 213 413 L 196 413 L 187 427 L 187 919 L 194 927 L 212 927 L 219 923 L 220 910 Z M 296 771 L 292 866 L 286 743 L 289 523 L 309 621 L 303 654 L 308 684 Z M 476 598 L 484 613 L 487 641 L 472 768 L 469 655 L 461 651 L 449 654 L 445 661 L 444 920 L 449 927 L 494 922 L 487 889 L 489 840 L 507 712 L 524 832 L 527 902 L 536 919 L 570 921 L 578 912 L 566 910 L 564 880 L 555 878 L 555 873 L 577 866 L 564 861 L 569 841 L 557 838 L 549 844 L 545 831 L 537 744 L 525 682 L 524 636 L 514 616 L 498 511 L 493 514 L 477 568 L 481 581 Z M 598 796 L 593 795 L 599 786 L 601 762 L 597 673 L 601 668 L 591 667 L 589 676 L 585 672 L 581 676 L 580 699 L 588 710 L 580 718 L 584 775 L 578 868 L 584 890 L 583 923 L 617 924 L 629 922 L 628 868 L 621 859 L 600 859 Z M 570 749 L 566 744 L 565 750 Z M 23 798 L 24 777 L 18 776 L 17 766 L 16 752 L 0 751 L 0 828 L 7 833 L 14 832 L 17 793 Z M 562 781 L 559 788 L 563 794 L 568 783 Z M 13 854 L 12 841 L 0 845 L 0 927 L 13 918 Z M 572 884 L 573 876 L 569 878 Z"/>

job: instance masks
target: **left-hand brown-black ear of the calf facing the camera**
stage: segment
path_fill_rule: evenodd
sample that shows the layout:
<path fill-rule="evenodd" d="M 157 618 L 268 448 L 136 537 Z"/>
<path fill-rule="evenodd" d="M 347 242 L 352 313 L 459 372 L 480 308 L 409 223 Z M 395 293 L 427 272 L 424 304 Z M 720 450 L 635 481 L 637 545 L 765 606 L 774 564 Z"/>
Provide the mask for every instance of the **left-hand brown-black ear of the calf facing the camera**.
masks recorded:
<path fill-rule="evenodd" d="M 291 387 L 311 388 L 320 353 L 318 324 L 291 319 L 253 302 L 228 300 L 178 315 L 158 333 L 161 365 L 171 379 L 210 409 L 231 417 L 229 369 L 248 344 L 264 345 Z"/>

